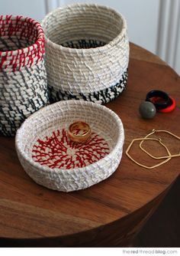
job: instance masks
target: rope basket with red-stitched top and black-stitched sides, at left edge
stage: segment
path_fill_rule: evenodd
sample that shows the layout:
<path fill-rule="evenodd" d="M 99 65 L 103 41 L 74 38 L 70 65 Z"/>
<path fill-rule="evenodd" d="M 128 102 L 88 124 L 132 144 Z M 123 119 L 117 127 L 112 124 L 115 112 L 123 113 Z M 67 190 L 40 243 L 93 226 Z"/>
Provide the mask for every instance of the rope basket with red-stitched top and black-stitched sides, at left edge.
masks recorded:
<path fill-rule="evenodd" d="M 47 105 L 43 29 L 22 16 L 0 16 L 0 134 L 14 136 L 21 123 Z"/>

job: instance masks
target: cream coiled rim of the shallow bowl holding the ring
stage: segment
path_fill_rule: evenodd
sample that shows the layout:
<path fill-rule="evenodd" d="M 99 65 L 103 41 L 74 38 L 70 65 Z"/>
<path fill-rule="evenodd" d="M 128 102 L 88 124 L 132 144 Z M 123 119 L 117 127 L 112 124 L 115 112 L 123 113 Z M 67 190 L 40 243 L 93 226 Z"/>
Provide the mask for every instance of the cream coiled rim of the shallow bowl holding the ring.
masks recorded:
<path fill-rule="evenodd" d="M 53 107 L 57 104 L 62 104 L 62 105 L 66 105 L 67 102 L 69 102 L 69 104 L 79 104 L 81 105 L 82 103 L 85 103 L 85 105 L 89 105 L 89 106 L 94 106 L 94 107 L 98 107 L 101 110 L 104 110 L 105 112 L 108 112 L 109 114 L 111 114 L 114 117 L 114 120 L 117 123 L 118 126 L 118 131 L 121 133 L 118 135 L 118 139 L 116 141 L 116 144 L 114 146 L 114 148 L 111 150 L 111 152 L 107 155 L 104 156 L 104 158 L 98 160 L 97 162 L 93 162 L 92 164 L 85 166 L 85 167 L 79 167 L 79 168 L 74 168 L 74 169 L 58 169 L 58 168 L 50 168 L 48 166 L 42 166 L 40 165 L 39 162 L 34 162 L 34 160 L 31 158 L 31 156 L 29 156 L 27 153 L 24 153 L 24 151 L 21 149 L 21 130 L 24 129 L 24 126 L 26 125 L 26 123 L 33 119 L 34 117 L 36 117 L 37 113 L 43 112 L 44 110 L 46 110 L 47 108 Z M 108 107 L 102 106 L 98 103 L 93 103 L 93 102 L 89 102 L 89 101 L 85 101 L 85 100 L 63 100 L 63 101 L 59 101 L 53 104 L 48 105 L 47 107 L 43 107 L 40 110 L 37 110 L 37 112 L 31 114 L 30 117 L 27 117 L 27 119 L 24 121 L 24 123 L 22 123 L 21 127 L 17 130 L 17 133 L 15 135 L 15 147 L 16 150 L 18 151 L 18 153 L 21 154 L 21 156 L 23 157 L 23 159 L 25 159 L 28 163 L 30 163 L 32 166 L 34 166 L 34 168 L 37 169 L 43 169 L 44 172 L 85 172 L 86 169 L 91 168 L 91 166 L 96 165 L 98 163 L 98 165 L 101 165 L 101 163 L 104 162 L 104 159 L 112 159 L 111 156 L 113 156 L 115 153 L 117 153 L 117 150 L 120 150 L 120 148 L 123 148 L 124 146 L 124 125 L 120 119 L 120 117 L 117 116 L 117 113 L 114 113 L 114 111 L 110 110 Z"/>

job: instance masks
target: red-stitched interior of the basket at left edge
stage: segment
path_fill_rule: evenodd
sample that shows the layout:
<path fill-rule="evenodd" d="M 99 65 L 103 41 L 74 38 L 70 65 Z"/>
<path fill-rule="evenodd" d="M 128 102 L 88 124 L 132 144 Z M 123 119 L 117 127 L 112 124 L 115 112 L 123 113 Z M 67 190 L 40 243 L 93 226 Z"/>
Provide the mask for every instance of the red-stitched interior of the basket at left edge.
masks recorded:
<path fill-rule="evenodd" d="M 0 21 L 0 51 L 27 48 L 37 41 L 37 26 L 31 18 L 6 16 Z"/>

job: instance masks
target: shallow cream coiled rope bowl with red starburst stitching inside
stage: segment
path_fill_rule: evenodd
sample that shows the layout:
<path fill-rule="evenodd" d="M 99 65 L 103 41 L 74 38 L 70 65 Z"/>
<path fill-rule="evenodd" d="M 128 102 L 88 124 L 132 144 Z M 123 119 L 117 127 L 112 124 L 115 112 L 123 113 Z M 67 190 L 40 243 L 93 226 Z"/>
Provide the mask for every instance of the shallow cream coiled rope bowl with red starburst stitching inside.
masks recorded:
<path fill-rule="evenodd" d="M 92 129 L 87 143 L 73 143 L 66 136 L 69 124 L 77 120 Z M 69 192 L 86 189 L 115 172 L 123 152 L 124 126 L 108 107 L 63 100 L 28 117 L 15 143 L 21 165 L 35 182 Z"/>

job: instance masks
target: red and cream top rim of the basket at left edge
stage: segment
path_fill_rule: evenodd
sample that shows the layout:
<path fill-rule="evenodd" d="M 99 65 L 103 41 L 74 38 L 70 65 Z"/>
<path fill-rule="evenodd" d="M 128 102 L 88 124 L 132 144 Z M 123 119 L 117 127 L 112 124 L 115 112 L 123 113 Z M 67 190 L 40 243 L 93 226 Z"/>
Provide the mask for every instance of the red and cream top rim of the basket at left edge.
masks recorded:
<path fill-rule="evenodd" d="M 42 44 L 42 42 L 44 41 L 43 28 L 40 25 L 39 21 L 36 21 L 33 18 L 25 17 L 22 15 L 1 15 L 0 18 L 1 18 L 1 20 L 6 20 L 7 18 L 9 18 L 12 21 L 17 20 L 17 18 L 20 18 L 21 21 L 27 21 L 29 23 L 32 23 L 32 24 L 34 24 L 34 28 L 37 28 L 37 40 L 34 42 L 34 44 L 31 44 L 26 48 L 20 48 L 20 49 L 16 49 L 13 51 L 11 51 L 11 50 L 10 51 L 0 51 L 1 57 L 4 57 L 4 56 L 11 57 L 12 55 L 31 52 L 34 49 L 39 48 L 40 45 Z"/>

